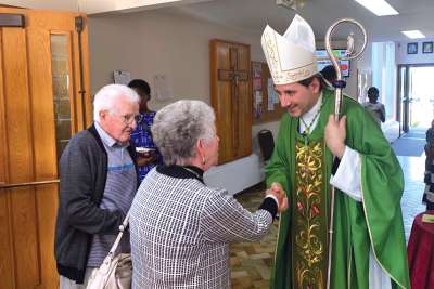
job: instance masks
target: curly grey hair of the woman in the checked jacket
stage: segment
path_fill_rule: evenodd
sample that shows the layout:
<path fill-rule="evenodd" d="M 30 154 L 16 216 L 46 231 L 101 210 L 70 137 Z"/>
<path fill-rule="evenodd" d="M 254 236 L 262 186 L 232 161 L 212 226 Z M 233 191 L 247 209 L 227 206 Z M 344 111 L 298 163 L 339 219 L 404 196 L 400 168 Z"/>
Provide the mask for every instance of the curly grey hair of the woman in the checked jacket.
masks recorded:
<path fill-rule="evenodd" d="M 201 101 L 178 101 L 158 110 L 151 131 L 164 162 L 190 165 L 197 140 L 214 139 L 215 119 L 213 108 Z"/>

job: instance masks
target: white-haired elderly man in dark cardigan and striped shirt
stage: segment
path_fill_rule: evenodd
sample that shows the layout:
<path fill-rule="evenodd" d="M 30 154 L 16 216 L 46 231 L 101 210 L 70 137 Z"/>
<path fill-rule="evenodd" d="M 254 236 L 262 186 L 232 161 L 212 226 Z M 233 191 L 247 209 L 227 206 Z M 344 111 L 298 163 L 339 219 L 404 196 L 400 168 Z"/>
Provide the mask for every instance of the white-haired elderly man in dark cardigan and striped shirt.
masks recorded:
<path fill-rule="evenodd" d="M 93 101 L 93 126 L 74 135 L 62 154 L 54 245 L 61 289 L 86 288 L 131 206 L 138 173 L 129 139 L 138 115 L 133 90 L 102 88 Z M 128 238 L 123 240 L 127 252 Z"/>

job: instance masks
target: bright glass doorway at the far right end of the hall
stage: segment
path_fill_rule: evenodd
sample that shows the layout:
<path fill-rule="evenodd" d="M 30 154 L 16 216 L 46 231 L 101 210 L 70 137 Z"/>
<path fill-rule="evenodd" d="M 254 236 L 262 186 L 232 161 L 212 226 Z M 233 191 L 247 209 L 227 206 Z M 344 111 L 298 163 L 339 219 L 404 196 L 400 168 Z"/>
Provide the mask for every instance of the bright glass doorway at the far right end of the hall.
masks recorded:
<path fill-rule="evenodd" d="M 400 131 L 424 132 L 434 118 L 434 64 L 398 65 Z"/>

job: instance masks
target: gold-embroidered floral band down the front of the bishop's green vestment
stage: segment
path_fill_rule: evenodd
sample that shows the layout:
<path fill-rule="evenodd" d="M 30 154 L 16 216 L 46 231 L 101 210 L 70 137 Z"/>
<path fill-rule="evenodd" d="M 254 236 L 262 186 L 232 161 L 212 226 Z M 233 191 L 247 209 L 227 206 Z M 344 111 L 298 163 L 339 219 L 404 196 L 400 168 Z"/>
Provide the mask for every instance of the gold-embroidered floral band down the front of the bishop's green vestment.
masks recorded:
<path fill-rule="evenodd" d="M 291 258 L 294 275 L 293 288 L 322 289 L 327 284 L 328 268 L 328 215 L 324 143 L 315 139 L 316 133 L 296 135 L 295 192 L 292 201 Z"/>

